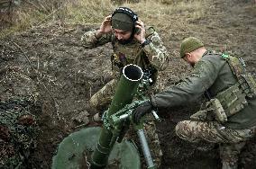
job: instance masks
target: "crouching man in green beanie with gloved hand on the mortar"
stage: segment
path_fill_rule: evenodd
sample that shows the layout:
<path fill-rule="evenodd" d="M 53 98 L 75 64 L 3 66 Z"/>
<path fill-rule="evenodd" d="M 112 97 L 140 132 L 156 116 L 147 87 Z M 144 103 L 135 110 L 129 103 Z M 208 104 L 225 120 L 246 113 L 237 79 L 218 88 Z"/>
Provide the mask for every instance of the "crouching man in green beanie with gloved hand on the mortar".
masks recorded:
<path fill-rule="evenodd" d="M 204 109 L 178 122 L 179 138 L 219 143 L 223 168 L 237 168 L 238 155 L 256 127 L 256 82 L 242 58 L 207 51 L 197 38 L 183 40 L 180 57 L 193 68 L 186 79 L 151 96 L 135 111 L 138 122 L 152 108 L 171 108 L 207 95 Z"/>

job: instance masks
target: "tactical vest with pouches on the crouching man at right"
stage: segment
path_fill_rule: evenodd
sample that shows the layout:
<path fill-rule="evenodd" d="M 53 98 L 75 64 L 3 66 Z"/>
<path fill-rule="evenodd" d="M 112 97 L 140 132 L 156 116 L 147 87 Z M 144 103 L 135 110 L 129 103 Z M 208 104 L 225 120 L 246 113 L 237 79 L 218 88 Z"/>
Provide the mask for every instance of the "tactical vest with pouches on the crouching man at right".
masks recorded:
<path fill-rule="evenodd" d="M 226 117 L 230 117 L 242 111 L 248 104 L 248 98 L 254 98 L 256 96 L 256 82 L 251 74 L 246 71 L 242 58 L 225 54 L 222 54 L 221 57 L 228 63 L 238 82 L 215 96 L 215 99 L 217 99 L 221 105 L 214 105 L 214 107 L 218 108 L 215 110 L 215 113 L 223 113 L 217 112 L 218 110 L 224 111 Z M 223 109 L 219 109 L 220 106 L 222 106 Z"/>

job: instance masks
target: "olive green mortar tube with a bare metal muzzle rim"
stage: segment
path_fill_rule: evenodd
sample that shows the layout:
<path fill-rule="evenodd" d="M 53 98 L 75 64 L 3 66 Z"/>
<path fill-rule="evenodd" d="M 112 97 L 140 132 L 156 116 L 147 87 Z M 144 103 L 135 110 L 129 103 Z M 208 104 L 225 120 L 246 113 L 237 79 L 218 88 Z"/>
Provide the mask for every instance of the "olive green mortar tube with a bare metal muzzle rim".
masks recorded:
<path fill-rule="evenodd" d="M 143 73 L 141 67 L 135 65 L 127 65 L 123 67 L 123 75 L 117 84 L 114 98 L 105 114 L 104 126 L 100 133 L 96 150 L 92 155 L 92 169 L 105 168 L 105 165 L 107 165 L 108 156 L 110 155 L 116 140 L 111 129 L 108 129 L 108 119 L 112 114 L 121 110 L 126 104 L 133 101 L 133 96 L 137 91 L 142 76 Z"/>

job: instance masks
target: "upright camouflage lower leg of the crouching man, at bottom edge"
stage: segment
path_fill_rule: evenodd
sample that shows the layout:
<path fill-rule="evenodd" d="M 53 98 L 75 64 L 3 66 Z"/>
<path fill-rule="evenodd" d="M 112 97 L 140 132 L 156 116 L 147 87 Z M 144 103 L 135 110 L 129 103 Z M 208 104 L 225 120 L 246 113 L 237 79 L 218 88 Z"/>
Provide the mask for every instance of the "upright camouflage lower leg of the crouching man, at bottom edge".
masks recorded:
<path fill-rule="evenodd" d="M 244 145 L 245 142 L 220 144 L 220 157 L 222 159 L 223 169 L 237 169 L 239 154 Z"/>

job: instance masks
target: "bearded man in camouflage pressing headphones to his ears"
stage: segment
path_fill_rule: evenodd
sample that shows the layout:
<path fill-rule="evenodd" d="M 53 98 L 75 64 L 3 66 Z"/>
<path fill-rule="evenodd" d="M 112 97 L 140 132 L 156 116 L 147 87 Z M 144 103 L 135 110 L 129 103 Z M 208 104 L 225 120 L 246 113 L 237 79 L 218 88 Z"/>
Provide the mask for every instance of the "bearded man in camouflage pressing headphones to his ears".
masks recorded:
<path fill-rule="evenodd" d="M 119 7 L 114 13 L 106 16 L 99 30 L 87 31 L 81 40 L 90 49 L 111 42 L 114 50 L 111 57 L 114 78 L 91 97 L 89 101 L 91 107 L 98 107 L 111 101 L 124 66 L 134 64 L 142 67 L 144 72 L 150 71 L 151 86 L 156 85 L 156 80 L 159 78 L 158 71 L 168 66 L 168 53 L 159 34 L 153 27 L 145 27 L 144 23 L 138 20 L 137 14 L 126 7 Z M 95 117 L 98 116 L 97 113 Z M 145 129 L 153 145 L 151 149 L 157 149 L 154 150 L 158 152 L 155 157 L 160 164 L 162 153 L 158 135 L 155 133 L 155 124 L 149 122 L 145 125 Z"/>

